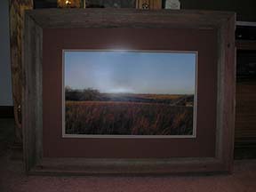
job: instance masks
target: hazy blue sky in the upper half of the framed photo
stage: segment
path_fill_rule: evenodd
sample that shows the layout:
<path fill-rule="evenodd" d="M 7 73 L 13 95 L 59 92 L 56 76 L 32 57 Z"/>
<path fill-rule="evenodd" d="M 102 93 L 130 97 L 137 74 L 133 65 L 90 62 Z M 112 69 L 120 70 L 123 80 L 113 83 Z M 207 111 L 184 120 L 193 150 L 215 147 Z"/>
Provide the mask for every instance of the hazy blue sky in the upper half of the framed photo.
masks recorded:
<path fill-rule="evenodd" d="M 194 94 L 195 52 L 65 51 L 64 83 L 100 92 Z"/>

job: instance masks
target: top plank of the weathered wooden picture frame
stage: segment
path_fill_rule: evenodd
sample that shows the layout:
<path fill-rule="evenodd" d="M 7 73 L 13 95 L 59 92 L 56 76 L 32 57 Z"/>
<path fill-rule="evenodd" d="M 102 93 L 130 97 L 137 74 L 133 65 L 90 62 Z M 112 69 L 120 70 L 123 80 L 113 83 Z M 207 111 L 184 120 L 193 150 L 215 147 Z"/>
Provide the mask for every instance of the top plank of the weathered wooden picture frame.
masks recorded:
<path fill-rule="evenodd" d="M 109 8 L 44 9 L 28 14 L 42 28 L 219 28 L 233 12 Z"/>

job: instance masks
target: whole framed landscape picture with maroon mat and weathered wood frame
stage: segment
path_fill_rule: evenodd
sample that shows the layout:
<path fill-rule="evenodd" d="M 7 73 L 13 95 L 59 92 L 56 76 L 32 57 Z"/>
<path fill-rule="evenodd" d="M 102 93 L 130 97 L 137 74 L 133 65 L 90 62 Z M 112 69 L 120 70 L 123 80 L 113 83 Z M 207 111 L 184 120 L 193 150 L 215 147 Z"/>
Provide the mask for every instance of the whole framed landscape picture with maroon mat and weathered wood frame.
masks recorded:
<path fill-rule="evenodd" d="M 51 9 L 25 18 L 26 172 L 232 171 L 235 13 Z"/>

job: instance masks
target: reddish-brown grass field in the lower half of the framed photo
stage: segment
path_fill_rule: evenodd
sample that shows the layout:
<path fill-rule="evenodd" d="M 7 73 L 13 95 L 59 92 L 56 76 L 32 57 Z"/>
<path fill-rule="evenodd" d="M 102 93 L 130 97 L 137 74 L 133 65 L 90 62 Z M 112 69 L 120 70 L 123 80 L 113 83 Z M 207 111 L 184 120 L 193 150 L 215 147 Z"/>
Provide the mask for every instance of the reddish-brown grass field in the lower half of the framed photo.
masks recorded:
<path fill-rule="evenodd" d="M 65 118 L 67 134 L 191 135 L 193 131 L 193 108 L 163 103 L 66 101 Z"/>

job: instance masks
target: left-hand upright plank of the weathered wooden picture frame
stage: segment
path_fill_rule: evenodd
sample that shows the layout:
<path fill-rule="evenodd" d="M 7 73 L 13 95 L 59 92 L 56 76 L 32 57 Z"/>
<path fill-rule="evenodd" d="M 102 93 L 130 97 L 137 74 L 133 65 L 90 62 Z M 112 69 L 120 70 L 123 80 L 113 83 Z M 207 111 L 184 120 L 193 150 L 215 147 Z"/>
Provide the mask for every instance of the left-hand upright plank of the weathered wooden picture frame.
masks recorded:
<path fill-rule="evenodd" d="M 42 158 L 42 48 L 43 30 L 26 15 L 22 51 L 22 127 L 26 171 Z"/>

